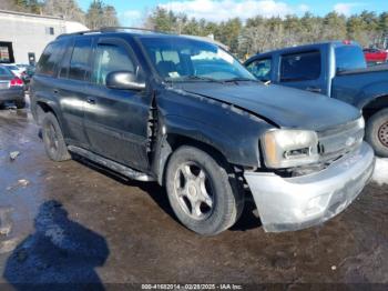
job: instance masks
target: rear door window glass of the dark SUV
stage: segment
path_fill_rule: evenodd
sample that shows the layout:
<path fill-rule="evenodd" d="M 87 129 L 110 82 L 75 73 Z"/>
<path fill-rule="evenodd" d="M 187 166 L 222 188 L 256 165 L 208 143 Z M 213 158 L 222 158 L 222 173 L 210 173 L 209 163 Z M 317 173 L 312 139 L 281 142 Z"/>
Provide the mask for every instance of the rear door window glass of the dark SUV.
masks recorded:
<path fill-rule="evenodd" d="M 92 40 L 81 38 L 75 40 L 73 54 L 70 61 L 69 79 L 85 80 L 90 73 L 89 57 L 91 52 Z"/>

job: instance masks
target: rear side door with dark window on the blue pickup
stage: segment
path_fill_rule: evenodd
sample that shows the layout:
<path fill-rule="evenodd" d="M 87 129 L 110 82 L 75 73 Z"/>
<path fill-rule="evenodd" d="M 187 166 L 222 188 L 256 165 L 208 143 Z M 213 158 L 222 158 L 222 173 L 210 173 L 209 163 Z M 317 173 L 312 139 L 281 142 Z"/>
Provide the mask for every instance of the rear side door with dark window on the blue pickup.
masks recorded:
<path fill-rule="evenodd" d="M 318 48 L 280 54 L 278 82 L 283 86 L 327 94 L 325 57 Z"/>

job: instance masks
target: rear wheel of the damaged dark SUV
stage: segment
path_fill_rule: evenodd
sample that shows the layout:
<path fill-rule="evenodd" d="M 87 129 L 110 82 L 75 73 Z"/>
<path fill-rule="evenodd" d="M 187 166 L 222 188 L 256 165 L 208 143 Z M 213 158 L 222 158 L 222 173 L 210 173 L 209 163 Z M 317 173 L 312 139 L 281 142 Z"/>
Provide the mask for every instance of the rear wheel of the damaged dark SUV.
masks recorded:
<path fill-rule="evenodd" d="M 55 162 L 71 159 L 55 116 L 45 113 L 42 120 L 42 138 L 49 158 Z"/>

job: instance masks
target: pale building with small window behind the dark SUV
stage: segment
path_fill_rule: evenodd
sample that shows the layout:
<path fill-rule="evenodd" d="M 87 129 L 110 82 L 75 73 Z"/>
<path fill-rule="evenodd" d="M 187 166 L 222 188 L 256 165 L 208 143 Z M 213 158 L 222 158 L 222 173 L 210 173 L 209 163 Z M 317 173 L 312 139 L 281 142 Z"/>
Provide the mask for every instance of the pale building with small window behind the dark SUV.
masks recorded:
<path fill-rule="evenodd" d="M 0 62 L 34 63 L 59 34 L 88 30 L 59 17 L 0 10 Z"/>

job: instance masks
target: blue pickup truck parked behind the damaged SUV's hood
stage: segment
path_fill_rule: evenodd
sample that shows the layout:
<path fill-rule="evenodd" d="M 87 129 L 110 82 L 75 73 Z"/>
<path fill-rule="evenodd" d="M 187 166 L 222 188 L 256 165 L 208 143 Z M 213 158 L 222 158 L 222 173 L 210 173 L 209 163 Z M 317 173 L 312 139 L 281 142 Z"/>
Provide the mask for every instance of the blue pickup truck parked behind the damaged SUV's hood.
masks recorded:
<path fill-rule="evenodd" d="M 268 51 L 252 57 L 245 66 L 264 82 L 357 107 L 366 120 L 366 140 L 377 155 L 388 157 L 388 66 L 367 68 L 356 42 L 330 41 Z"/>

